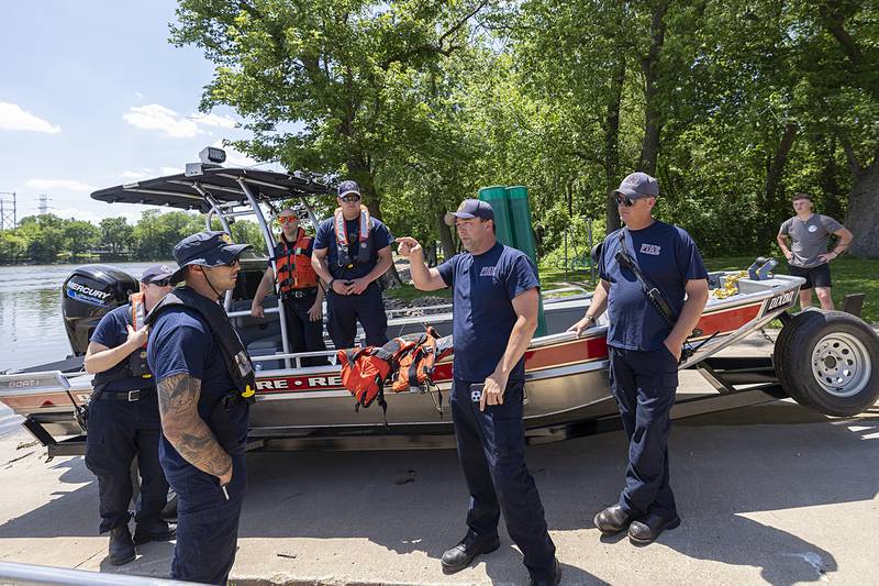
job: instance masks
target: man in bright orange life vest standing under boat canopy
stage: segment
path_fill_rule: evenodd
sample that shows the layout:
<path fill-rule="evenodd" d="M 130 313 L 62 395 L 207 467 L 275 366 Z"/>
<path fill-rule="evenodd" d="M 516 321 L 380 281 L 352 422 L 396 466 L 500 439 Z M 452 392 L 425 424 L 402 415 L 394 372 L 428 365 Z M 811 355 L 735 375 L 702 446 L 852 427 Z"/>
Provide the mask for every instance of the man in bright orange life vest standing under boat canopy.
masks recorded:
<path fill-rule="evenodd" d="M 265 316 L 263 300 L 277 283 L 278 296 L 283 303 L 290 352 L 324 351 L 323 287 L 311 266 L 313 239 L 305 234 L 299 225 L 299 218 L 290 208 L 280 212 L 278 222 L 281 224 L 281 236 L 275 246 L 278 276 L 275 277 L 269 263 L 254 295 L 251 314 L 255 318 Z M 303 366 L 323 364 L 326 364 L 326 358 L 321 356 L 302 360 Z"/>

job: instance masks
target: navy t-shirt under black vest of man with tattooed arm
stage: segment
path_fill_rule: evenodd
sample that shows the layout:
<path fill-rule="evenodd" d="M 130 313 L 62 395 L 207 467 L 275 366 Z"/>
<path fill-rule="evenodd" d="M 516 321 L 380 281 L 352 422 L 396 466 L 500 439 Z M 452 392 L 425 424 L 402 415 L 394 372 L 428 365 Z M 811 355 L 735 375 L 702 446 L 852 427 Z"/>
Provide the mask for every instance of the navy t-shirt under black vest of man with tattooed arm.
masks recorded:
<path fill-rule="evenodd" d="M 210 327 L 193 309 L 167 309 L 156 318 L 149 330 L 147 361 L 159 383 L 171 375 L 188 374 L 201 380 L 202 395 L 225 396 L 235 388 Z M 238 453 L 244 453 L 247 440 L 247 412 L 248 406 L 244 401 L 235 403 L 230 410 L 238 439 Z M 199 401 L 199 414 L 213 431 L 210 411 L 204 401 Z M 159 456 L 167 476 L 191 474 L 191 464 L 183 460 L 164 435 Z"/>

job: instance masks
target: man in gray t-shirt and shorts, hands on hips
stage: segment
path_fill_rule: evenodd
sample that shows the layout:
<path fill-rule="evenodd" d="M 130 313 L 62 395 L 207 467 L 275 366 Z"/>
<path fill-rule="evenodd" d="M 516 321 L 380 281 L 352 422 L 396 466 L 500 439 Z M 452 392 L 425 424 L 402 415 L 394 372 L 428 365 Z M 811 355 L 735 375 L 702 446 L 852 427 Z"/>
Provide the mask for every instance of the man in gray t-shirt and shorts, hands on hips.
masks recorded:
<path fill-rule="evenodd" d="M 812 197 L 808 194 L 793 196 L 793 211 L 797 215 L 785 220 L 776 240 L 788 258 L 790 274 L 805 279 L 805 285 L 800 288 L 800 307 L 812 305 L 814 288 L 821 309 L 833 309 L 830 262 L 848 247 L 852 232 L 830 215 L 812 213 Z M 827 252 L 831 234 L 838 240 L 836 246 Z"/>

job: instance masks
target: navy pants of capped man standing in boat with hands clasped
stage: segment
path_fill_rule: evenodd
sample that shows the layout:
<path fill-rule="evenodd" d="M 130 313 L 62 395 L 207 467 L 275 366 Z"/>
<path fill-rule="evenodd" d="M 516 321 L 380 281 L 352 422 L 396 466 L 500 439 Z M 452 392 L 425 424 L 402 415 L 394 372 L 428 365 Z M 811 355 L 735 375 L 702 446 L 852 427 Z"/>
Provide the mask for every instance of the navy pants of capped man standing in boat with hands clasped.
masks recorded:
<path fill-rule="evenodd" d="M 357 320 L 364 328 L 367 346 L 382 346 L 388 341 L 388 316 L 378 284 L 370 283 L 360 295 L 337 295 L 330 291 L 326 298 L 327 328 L 336 349 L 354 346 Z"/>

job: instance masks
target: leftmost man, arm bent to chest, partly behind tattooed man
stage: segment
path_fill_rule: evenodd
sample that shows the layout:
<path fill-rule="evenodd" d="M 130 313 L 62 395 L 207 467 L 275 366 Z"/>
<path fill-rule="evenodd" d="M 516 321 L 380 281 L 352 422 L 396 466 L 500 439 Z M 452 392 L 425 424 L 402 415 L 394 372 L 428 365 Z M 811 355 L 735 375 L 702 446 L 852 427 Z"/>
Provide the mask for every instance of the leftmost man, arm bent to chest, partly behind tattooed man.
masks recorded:
<path fill-rule="evenodd" d="M 86 466 L 98 477 L 100 532 L 110 531 L 113 565 L 134 560 L 135 544 L 174 538 L 174 529 L 160 518 L 168 482 L 158 461 L 162 423 L 156 384 L 146 364 L 148 332 L 144 325 L 145 314 L 171 290 L 171 273 L 167 265 L 147 268 L 141 277 L 141 292 L 131 296 L 131 303 L 101 318 L 86 352 L 86 371 L 94 374 Z M 132 540 L 129 501 L 134 456 L 142 480 Z"/>

